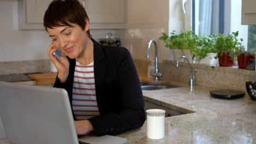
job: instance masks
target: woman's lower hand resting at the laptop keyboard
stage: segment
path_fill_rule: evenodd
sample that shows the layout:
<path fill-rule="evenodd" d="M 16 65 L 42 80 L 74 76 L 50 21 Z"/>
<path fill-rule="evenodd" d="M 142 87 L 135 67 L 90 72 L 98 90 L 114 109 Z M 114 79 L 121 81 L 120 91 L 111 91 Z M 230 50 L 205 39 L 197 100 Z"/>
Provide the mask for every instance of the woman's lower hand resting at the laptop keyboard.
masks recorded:
<path fill-rule="evenodd" d="M 92 127 L 91 122 L 87 119 L 80 120 L 80 121 L 74 121 L 75 123 L 75 129 L 77 130 L 78 135 L 86 135 L 89 134 L 90 131 L 94 130 L 94 127 Z"/>

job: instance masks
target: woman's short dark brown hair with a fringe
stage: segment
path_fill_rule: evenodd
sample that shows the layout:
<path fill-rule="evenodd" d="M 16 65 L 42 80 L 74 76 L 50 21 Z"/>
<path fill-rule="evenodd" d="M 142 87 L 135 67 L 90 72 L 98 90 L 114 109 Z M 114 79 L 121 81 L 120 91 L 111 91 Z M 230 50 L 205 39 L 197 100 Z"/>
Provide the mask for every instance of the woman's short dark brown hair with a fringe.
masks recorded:
<path fill-rule="evenodd" d="M 52 29 L 53 27 L 73 27 L 71 23 L 74 23 L 84 29 L 85 19 L 89 21 L 85 9 L 78 0 L 54 0 L 44 13 L 44 27 L 47 31 L 47 28 Z M 87 34 L 91 38 L 89 29 Z"/>

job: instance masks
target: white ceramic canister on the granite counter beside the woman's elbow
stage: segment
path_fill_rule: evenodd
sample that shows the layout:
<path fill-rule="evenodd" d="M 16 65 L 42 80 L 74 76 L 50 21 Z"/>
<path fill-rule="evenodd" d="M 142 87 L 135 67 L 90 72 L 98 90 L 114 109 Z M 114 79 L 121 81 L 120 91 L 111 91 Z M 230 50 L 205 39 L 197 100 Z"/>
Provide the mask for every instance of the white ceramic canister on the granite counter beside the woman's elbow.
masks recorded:
<path fill-rule="evenodd" d="M 162 139 L 165 137 L 165 110 L 150 109 L 147 113 L 147 137 Z"/>

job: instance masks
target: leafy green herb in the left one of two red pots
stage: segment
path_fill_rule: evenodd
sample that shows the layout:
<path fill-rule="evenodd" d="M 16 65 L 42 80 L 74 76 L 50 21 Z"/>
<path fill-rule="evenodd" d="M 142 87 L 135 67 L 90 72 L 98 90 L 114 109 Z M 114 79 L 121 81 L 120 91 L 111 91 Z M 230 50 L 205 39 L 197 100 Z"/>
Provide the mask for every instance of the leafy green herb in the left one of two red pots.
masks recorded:
<path fill-rule="evenodd" d="M 228 35 L 219 34 L 216 37 L 214 49 L 218 52 L 219 66 L 231 67 L 234 64 L 234 53 L 237 51 L 241 42 L 237 39 L 238 31 Z"/>

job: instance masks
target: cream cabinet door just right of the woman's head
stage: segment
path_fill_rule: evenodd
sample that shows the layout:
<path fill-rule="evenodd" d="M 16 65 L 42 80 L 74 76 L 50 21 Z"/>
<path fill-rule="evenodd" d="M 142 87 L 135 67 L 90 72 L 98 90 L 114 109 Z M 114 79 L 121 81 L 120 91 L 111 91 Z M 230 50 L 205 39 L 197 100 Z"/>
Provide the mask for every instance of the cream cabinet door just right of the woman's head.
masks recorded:
<path fill-rule="evenodd" d="M 80 0 L 83 1 L 90 19 L 90 29 L 124 29 L 125 0 Z"/>

